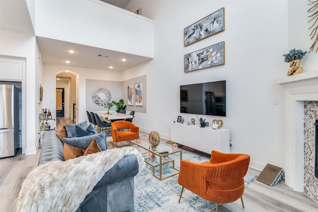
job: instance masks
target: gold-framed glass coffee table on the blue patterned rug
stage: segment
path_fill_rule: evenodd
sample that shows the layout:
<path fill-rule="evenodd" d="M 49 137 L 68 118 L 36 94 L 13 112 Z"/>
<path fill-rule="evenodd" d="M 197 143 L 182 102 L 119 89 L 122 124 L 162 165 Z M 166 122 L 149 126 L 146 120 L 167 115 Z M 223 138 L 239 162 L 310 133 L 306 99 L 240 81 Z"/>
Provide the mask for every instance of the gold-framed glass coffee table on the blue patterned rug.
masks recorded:
<path fill-rule="evenodd" d="M 163 142 L 160 142 L 157 148 L 160 148 L 160 147 L 161 147 L 161 149 L 167 150 L 168 153 L 159 154 L 159 152 L 153 151 L 152 149 L 146 147 L 147 145 L 148 145 L 148 146 L 151 145 L 147 140 L 139 140 L 139 141 L 141 141 L 141 143 L 138 143 L 138 140 L 137 140 L 137 141 L 130 141 L 130 145 L 131 145 L 131 146 L 137 145 L 137 146 L 139 146 L 139 147 L 141 147 L 141 148 L 147 150 L 147 152 L 146 152 L 147 154 L 149 154 L 149 152 L 152 152 L 154 155 L 159 156 L 159 163 L 158 163 L 158 164 L 151 163 L 150 161 L 148 161 L 148 160 L 145 159 L 145 162 L 148 163 L 149 165 L 151 165 L 151 166 L 153 167 L 153 175 L 154 175 L 157 179 L 159 179 L 159 180 L 164 180 L 164 179 L 166 179 L 166 178 L 168 178 L 168 177 L 172 177 L 172 176 L 174 176 L 174 175 L 176 175 L 176 174 L 179 174 L 180 169 L 177 169 L 177 168 L 175 167 L 174 159 L 169 158 L 168 160 L 164 160 L 164 161 L 163 161 L 162 158 L 163 158 L 163 157 L 166 157 L 166 156 L 168 156 L 168 155 L 171 155 L 171 154 L 180 153 L 180 164 L 181 164 L 181 160 L 182 160 L 182 150 L 181 150 L 181 149 L 172 151 L 172 146 L 170 146 L 170 145 L 168 145 L 168 144 L 165 144 L 165 143 L 163 143 Z M 147 144 L 147 143 L 148 143 L 148 144 Z M 144 144 L 144 145 L 143 145 L 143 144 Z M 162 145 L 165 145 L 165 146 L 163 147 Z M 162 147 L 163 147 L 163 148 L 162 148 Z M 169 150 L 169 148 L 170 148 L 170 150 Z M 144 154 L 145 154 L 145 153 L 144 153 Z M 144 156 L 144 155 L 143 155 L 143 156 Z M 145 156 L 144 156 L 144 158 L 145 158 Z M 176 170 L 176 171 L 173 172 L 173 173 L 171 173 L 171 174 L 169 174 L 169 175 L 167 175 L 167 176 L 162 177 L 162 165 L 163 165 L 163 164 L 166 164 L 166 163 L 170 163 L 170 162 L 172 162 L 172 169 L 174 169 L 174 170 Z M 156 168 L 157 166 L 159 166 L 159 176 L 155 173 L 155 168 Z"/>

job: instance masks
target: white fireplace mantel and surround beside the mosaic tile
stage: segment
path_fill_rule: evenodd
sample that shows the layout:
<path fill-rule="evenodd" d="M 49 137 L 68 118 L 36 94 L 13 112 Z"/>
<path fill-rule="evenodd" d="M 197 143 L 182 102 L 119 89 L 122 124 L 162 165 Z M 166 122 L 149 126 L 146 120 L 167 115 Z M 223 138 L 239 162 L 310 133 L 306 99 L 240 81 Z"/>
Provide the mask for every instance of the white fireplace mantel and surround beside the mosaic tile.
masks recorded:
<path fill-rule="evenodd" d="M 286 76 L 274 83 L 285 88 L 285 183 L 303 192 L 304 101 L 318 101 L 318 70 Z"/>

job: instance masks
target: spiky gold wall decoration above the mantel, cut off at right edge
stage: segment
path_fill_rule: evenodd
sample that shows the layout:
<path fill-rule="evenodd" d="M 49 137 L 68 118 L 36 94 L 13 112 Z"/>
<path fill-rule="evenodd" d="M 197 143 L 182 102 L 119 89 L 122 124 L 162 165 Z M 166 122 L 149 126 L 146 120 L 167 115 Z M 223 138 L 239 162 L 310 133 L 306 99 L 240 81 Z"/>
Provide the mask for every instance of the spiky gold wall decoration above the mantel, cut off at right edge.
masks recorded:
<path fill-rule="evenodd" d="M 310 36 L 313 35 L 311 39 L 313 39 L 316 36 L 314 38 L 313 45 L 310 47 L 310 51 L 309 51 L 309 53 L 310 53 L 312 51 L 314 52 L 315 46 L 318 43 L 318 32 L 317 32 L 317 28 L 318 28 L 318 16 L 317 16 L 317 14 L 318 14 L 318 0 L 308 0 L 308 1 L 310 2 L 308 5 L 313 5 L 309 10 L 307 10 L 309 13 L 312 12 L 312 14 L 308 16 L 309 18 L 312 18 L 312 19 L 310 19 L 308 22 L 314 20 L 313 25 L 309 28 L 309 30 L 311 28 L 313 28 L 312 33 L 310 33 Z M 315 24 L 316 24 L 316 27 L 315 27 Z M 317 51 L 318 51 L 318 47 L 316 49 L 316 53 L 317 53 Z"/>

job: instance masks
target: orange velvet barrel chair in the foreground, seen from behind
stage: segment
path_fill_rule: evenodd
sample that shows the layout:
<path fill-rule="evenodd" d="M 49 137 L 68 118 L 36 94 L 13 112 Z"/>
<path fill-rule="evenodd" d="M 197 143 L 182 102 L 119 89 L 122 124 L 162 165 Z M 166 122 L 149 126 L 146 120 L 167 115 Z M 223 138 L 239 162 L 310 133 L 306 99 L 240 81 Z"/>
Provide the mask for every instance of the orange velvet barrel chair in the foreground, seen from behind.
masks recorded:
<path fill-rule="evenodd" d="M 186 188 L 205 200 L 219 204 L 243 203 L 244 179 L 249 165 L 248 154 L 230 154 L 212 150 L 209 162 L 181 160 L 178 183 L 182 186 L 179 203 Z"/>

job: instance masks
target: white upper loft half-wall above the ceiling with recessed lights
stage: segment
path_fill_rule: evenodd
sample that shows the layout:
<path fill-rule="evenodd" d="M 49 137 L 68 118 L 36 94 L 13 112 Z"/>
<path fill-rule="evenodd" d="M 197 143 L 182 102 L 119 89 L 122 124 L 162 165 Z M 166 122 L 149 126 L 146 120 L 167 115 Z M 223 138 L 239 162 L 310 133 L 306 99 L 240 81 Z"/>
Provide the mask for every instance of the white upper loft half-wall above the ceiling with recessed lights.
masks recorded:
<path fill-rule="evenodd" d="M 99 0 L 38 0 L 35 34 L 145 57 L 154 57 L 154 23 Z"/>

